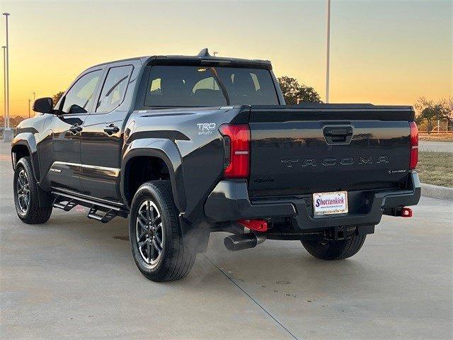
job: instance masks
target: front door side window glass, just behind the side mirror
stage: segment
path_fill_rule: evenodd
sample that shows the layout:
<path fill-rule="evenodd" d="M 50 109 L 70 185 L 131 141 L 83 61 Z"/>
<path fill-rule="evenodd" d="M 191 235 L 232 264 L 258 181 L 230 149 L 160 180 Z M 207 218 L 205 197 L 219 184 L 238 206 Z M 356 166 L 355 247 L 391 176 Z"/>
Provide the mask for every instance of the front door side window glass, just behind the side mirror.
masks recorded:
<path fill-rule="evenodd" d="M 93 109 L 94 92 L 101 79 L 102 71 L 94 71 L 82 76 L 67 92 L 63 113 L 86 113 Z"/>

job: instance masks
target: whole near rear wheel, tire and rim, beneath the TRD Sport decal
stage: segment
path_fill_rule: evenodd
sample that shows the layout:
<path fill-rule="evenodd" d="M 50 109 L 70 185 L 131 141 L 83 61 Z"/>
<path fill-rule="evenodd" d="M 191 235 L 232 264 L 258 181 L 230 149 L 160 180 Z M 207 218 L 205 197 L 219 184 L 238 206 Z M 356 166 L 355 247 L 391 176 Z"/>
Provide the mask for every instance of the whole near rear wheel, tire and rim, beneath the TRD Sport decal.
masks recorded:
<path fill-rule="evenodd" d="M 132 256 L 149 280 L 179 280 L 193 267 L 197 254 L 183 245 L 178 215 L 170 181 L 144 183 L 132 199 L 129 220 Z"/>

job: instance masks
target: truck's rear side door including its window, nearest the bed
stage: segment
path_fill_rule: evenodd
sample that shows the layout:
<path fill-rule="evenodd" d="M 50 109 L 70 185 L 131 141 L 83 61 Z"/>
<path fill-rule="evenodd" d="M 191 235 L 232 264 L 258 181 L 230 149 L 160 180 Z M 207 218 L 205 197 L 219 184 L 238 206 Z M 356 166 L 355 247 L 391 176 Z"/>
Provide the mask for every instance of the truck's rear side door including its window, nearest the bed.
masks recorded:
<path fill-rule="evenodd" d="M 81 185 L 88 196 L 120 200 L 122 134 L 130 108 L 125 96 L 134 87 L 130 84 L 133 71 L 130 62 L 108 67 L 96 110 L 86 118 L 81 133 Z"/>

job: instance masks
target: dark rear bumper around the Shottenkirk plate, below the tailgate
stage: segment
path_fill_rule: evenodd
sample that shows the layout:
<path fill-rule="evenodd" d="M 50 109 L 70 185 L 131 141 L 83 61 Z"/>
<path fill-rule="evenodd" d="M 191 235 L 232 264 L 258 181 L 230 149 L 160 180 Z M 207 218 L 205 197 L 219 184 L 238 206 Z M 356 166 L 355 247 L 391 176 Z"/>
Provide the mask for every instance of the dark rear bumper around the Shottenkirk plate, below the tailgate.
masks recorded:
<path fill-rule="evenodd" d="M 237 221 L 266 217 L 291 217 L 299 229 L 339 225 L 377 225 L 391 208 L 416 205 L 420 200 L 420 180 L 413 171 L 408 189 L 389 191 L 351 191 L 352 209 L 344 215 L 313 215 L 311 195 L 250 200 L 243 180 L 220 181 L 205 204 L 205 215 L 211 222 Z M 364 200 L 364 197 L 366 200 Z"/>

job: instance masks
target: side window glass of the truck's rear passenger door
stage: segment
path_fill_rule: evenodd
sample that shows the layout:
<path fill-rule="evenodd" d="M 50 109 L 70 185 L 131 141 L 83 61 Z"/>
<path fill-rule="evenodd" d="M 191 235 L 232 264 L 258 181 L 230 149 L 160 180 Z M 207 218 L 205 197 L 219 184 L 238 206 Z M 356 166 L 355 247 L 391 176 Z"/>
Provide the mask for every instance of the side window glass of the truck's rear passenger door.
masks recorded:
<path fill-rule="evenodd" d="M 132 66 L 112 67 L 108 70 L 96 112 L 110 112 L 120 105 L 131 70 Z"/>

